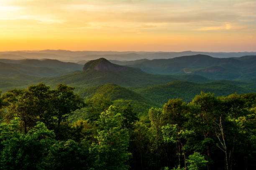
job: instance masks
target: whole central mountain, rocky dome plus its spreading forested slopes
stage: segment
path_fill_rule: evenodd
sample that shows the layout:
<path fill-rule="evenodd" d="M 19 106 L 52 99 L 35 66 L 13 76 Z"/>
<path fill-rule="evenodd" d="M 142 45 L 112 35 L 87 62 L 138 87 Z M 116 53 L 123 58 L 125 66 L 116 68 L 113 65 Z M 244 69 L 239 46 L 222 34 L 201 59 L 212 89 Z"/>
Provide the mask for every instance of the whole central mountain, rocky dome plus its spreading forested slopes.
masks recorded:
<path fill-rule="evenodd" d="M 123 87 L 159 85 L 173 80 L 210 81 L 198 75 L 151 75 L 138 68 L 115 65 L 105 59 L 87 62 L 82 72 L 77 71 L 61 77 L 46 78 L 43 81 L 49 85 L 64 83 L 84 88 L 108 83 L 115 83 Z"/>

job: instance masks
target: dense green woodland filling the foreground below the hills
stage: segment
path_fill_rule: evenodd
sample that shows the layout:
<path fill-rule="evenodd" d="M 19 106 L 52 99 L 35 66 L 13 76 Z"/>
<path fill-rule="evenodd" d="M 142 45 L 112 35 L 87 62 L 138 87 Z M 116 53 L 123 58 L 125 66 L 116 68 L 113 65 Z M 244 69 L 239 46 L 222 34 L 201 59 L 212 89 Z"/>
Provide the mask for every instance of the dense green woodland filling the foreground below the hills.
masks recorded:
<path fill-rule="evenodd" d="M 166 100 L 138 116 L 133 103 L 118 105 L 112 95 L 97 89 L 84 91 L 82 98 L 74 87 L 59 84 L 51 89 L 40 83 L 3 93 L 0 168 L 256 168 L 255 93 L 216 97 L 201 92 L 191 102 Z M 135 97 L 130 95 L 131 100 Z M 139 100 L 149 101 L 142 96 Z"/>

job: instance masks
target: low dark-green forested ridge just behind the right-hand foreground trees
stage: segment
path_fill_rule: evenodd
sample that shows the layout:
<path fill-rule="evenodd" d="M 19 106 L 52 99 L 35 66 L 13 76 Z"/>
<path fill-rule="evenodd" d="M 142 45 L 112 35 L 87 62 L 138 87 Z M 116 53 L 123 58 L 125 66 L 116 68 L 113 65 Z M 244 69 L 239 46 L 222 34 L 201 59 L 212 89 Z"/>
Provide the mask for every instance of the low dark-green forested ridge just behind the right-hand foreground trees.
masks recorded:
<path fill-rule="evenodd" d="M 182 98 L 185 102 L 190 102 L 201 91 L 215 93 L 216 96 L 226 96 L 235 92 L 256 92 L 255 86 L 253 82 L 243 83 L 226 80 L 207 83 L 172 81 L 164 85 L 130 87 L 130 89 L 153 102 L 163 105 L 172 98 Z"/>

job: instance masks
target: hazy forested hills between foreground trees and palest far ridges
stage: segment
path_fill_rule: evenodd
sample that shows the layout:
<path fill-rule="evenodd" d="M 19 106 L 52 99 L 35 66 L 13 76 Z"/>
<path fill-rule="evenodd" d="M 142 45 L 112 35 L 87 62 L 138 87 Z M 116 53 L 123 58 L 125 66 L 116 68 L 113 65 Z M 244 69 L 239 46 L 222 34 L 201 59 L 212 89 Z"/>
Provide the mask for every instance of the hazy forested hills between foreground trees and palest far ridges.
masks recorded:
<path fill-rule="evenodd" d="M 60 51 L 61 55 L 67 53 Z M 118 100 L 119 105 L 134 103 L 140 112 L 153 105 L 161 106 L 169 98 L 181 97 L 189 102 L 201 90 L 216 95 L 256 92 L 256 55 L 230 58 L 191 55 L 132 61 L 99 58 L 84 65 L 51 59 L 0 59 L 0 66 L 3 92 L 39 82 L 53 88 L 63 83 L 76 87 L 76 92 L 85 98 L 101 92 Z M 142 109 L 139 105 L 147 107 Z"/>

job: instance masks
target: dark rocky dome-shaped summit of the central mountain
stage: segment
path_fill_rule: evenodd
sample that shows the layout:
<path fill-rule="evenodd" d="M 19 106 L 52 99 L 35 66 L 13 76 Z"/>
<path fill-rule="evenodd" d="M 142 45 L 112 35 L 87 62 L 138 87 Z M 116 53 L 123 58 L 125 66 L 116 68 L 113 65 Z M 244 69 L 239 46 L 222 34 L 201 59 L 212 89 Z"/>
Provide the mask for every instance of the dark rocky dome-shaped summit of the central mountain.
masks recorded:
<path fill-rule="evenodd" d="M 84 64 L 83 70 L 109 70 L 113 72 L 119 72 L 122 70 L 130 70 L 130 67 L 116 65 L 109 62 L 105 58 L 99 58 L 97 60 L 91 60 Z"/>

